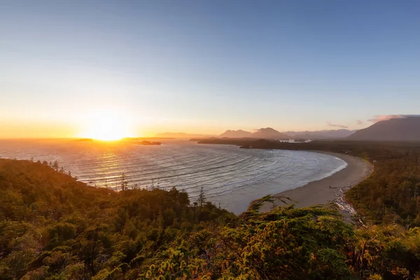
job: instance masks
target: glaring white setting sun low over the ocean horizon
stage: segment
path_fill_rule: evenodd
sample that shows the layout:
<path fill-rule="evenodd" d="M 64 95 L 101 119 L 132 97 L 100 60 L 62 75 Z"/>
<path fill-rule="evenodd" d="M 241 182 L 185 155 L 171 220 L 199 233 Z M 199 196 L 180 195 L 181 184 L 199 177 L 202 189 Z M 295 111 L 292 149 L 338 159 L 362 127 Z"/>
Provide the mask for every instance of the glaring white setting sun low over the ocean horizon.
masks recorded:
<path fill-rule="evenodd" d="M 112 112 L 93 113 L 87 121 L 83 137 L 102 141 L 117 141 L 131 137 L 130 125 L 122 115 Z"/>

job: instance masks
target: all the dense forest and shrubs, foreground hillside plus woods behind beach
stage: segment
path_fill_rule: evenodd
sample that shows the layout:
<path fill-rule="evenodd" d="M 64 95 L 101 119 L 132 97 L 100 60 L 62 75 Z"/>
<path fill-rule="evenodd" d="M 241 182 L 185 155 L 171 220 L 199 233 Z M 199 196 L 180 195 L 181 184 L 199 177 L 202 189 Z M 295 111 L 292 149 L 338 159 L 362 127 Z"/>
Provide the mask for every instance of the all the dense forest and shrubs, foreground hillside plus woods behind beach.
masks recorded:
<path fill-rule="evenodd" d="M 0 279 L 420 279 L 419 146 L 276 145 L 374 162 L 348 194 L 366 225 L 345 224 L 333 205 L 258 213 L 269 196 L 235 216 L 204 194 L 191 204 L 176 188 L 116 193 L 0 160 Z"/>

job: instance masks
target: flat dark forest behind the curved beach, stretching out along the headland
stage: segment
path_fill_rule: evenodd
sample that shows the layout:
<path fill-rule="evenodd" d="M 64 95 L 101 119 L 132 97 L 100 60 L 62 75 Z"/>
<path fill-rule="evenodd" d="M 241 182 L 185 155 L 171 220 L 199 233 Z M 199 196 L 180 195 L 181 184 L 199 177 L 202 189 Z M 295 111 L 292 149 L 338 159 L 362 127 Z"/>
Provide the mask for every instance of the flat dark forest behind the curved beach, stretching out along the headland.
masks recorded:
<path fill-rule="evenodd" d="M 211 139 L 202 144 L 234 144 L 244 148 L 331 151 L 363 158 L 374 172 L 346 193 L 346 199 L 369 223 L 420 226 L 420 143 Z"/>

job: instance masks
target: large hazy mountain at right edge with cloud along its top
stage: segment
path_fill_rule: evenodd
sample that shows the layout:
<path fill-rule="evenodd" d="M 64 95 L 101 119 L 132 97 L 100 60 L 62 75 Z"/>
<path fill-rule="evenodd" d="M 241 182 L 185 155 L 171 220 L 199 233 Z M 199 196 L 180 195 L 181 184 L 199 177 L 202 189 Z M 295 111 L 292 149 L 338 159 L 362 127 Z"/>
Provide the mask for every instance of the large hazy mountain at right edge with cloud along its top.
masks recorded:
<path fill-rule="evenodd" d="M 365 141 L 420 141 L 420 116 L 382 120 L 346 139 Z"/>

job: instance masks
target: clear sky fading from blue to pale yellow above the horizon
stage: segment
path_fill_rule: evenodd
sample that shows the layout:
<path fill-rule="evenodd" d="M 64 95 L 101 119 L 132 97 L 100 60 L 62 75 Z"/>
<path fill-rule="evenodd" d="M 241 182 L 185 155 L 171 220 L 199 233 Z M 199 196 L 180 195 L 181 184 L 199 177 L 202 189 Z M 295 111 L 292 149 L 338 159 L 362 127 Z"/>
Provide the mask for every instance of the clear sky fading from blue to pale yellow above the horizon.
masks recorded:
<path fill-rule="evenodd" d="M 409 0 L 1 1 L 0 137 L 104 122 L 126 136 L 353 130 L 416 114 L 419 14 Z"/>

